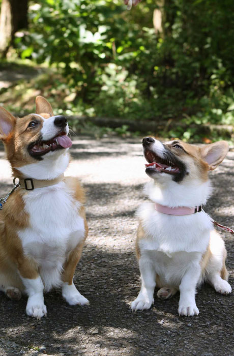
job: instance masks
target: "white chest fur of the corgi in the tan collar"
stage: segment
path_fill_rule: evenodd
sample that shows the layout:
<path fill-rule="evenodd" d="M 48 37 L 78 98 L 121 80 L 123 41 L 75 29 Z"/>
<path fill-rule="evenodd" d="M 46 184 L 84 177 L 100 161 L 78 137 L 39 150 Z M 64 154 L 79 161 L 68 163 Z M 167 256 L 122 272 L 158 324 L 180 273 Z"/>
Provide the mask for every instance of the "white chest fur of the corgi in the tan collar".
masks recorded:
<path fill-rule="evenodd" d="M 66 257 L 84 237 L 84 221 L 78 214 L 80 203 L 64 182 L 28 192 L 24 203 L 30 227 L 18 235 L 25 255 L 39 264 L 48 290 L 60 284 Z"/>

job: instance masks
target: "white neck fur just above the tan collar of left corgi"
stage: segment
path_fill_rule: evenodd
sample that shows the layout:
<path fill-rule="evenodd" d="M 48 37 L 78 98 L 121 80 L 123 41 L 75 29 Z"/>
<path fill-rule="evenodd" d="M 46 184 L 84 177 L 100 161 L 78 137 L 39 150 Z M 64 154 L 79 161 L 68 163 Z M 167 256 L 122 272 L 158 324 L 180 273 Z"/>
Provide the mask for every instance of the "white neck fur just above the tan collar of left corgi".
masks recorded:
<path fill-rule="evenodd" d="M 48 157 L 49 158 L 49 157 Z M 20 178 L 32 178 L 37 180 L 53 180 L 65 172 L 70 156 L 68 152 L 60 154 L 53 159 L 43 159 L 36 163 L 27 164 L 22 167 L 14 167 L 13 172 Z"/>

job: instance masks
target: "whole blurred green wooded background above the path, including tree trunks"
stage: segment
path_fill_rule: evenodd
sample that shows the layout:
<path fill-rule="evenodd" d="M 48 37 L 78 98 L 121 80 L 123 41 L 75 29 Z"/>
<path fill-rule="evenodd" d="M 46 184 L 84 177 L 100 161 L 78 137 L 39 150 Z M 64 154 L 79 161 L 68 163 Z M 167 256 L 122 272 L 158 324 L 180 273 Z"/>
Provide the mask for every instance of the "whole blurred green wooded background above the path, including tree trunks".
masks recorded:
<path fill-rule="evenodd" d="M 233 140 L 233 0 L 0 4 L 0 104 L 12 112 L 43 95 L 55 113 L 85 117 L 76 131 Z"/>

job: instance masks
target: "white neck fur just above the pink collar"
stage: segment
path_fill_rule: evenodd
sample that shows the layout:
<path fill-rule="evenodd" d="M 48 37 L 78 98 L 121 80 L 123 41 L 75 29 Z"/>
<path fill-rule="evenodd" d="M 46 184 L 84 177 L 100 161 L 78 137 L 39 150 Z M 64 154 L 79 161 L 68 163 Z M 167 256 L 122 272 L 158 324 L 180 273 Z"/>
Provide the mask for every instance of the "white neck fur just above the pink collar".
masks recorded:
<path fill-rule="evenodd" d="M 169 207 L 199 206 L 205 204 L 212 192 L 210 181 L 201 183 L 187 182 L 178 184 L 171 181 L 167 185 L 159 185 L 152 181 L 144 186 L 145 194 L 154 202 Z"/>

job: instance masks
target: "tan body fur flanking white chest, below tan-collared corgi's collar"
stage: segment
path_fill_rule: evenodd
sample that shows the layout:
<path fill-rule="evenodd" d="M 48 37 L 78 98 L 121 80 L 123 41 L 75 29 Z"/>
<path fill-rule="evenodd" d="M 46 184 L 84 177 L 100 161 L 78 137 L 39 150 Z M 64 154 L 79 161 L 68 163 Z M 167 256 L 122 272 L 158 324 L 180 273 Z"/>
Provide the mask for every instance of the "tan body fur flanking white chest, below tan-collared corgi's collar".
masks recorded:
<path fill-rule="evenodd" d="M 65 177 L 65 182 L 72 191 L 75 200 L 81 204 L 85 202 L 84 189 L 75 177 Z M 23 278 L 35 279 L 38 277 L 38 266 L 33 259 L 27 258 L 23 254 L 22 244 L 17 231 L 29 226 L 28 215 L 24 210 L 22 195 L 23 190 L 18 188 L 12 194 L 0 215 L 0 271 L 6 274 L 6 279 L 12 281 L 12 285 L 23 290 L 21 280 L 17 271 Z M 85 236 L 84 239 L 70 253 L 65 266 L 63 281 L 72 283 L 72 278 L 77 263 L 81 257 L 84 241 L 87 237 L 88 228 L 85 218 L 85 209 L 82 205 L 79 215 L 84 220 Z"/>

